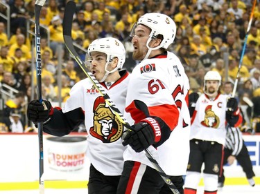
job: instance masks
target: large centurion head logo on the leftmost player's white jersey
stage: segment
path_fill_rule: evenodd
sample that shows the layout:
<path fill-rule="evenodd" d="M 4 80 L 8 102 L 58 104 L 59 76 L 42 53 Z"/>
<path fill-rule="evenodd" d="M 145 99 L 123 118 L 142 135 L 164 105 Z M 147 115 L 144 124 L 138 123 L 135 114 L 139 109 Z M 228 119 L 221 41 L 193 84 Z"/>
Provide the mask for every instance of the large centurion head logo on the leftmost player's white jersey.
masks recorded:
<path fill-rule="evenodd" d="M 110 106 L 106 106 L 103 97 L 96 98 L 93 106 L 93 126 L 89 133 L 103 143 L 116 142 L 123 133 L 123 124 L 113 114 Z"/>

